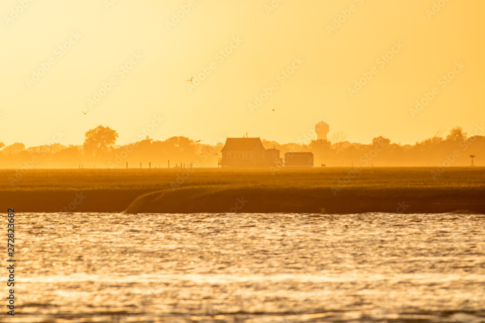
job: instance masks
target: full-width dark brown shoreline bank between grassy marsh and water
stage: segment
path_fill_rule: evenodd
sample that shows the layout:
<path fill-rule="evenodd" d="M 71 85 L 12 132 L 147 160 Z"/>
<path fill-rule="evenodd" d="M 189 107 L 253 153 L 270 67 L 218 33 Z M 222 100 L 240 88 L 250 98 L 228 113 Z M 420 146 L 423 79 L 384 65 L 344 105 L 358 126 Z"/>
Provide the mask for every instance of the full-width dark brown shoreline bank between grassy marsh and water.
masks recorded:
<path fill-rule="evenodd" d="M 16 212 L 128 213 L 449 213 L 485 214 L 485 191 L 416 189 L 229 188 L 203 186 L 153 192 L 146 189 L 88 189 L 1 192 L 0 205 Z"/>

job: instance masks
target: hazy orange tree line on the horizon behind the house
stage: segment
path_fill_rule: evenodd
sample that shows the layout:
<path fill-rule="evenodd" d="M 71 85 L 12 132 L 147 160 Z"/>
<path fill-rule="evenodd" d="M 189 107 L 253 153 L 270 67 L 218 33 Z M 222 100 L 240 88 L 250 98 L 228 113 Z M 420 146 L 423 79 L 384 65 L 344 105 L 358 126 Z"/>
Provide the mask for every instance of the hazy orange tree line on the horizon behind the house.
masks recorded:
<path fill-rule="evenodd" d="M 481 129 L 468 137 L 460 126 L 454 127 L 444 137 L 438 130 L 429 138 L 414 145 L 391 142 L 382 136 L 372 139 L 370 144 L 351 143 L 346 135 L 339 133 L 331 140 L 311 139 L 307 142 L 280 144 L 262 139 L 265 148 L 287 152 L 312 152 L 314 166 L 469 166 L 470 156 L 475 156 L 475 165 L 485 155 L 485 137 Z M 0 142 L 0 168 L 167 168 L 196 164 L 202 167 L 217 167 L 221 156 L 222 142 L 204 144 L 201 140 L 179 136 L 166 140 L 146 138 L 126 145 L 116 145 L 118 133 L 102 125 L 85 133 L 82 145 L 54 143 L 26 148 L 23 143 L 6 146 Z M 310 139 L 310 138 L 308 138 Z"/>

